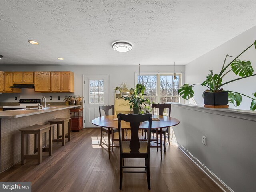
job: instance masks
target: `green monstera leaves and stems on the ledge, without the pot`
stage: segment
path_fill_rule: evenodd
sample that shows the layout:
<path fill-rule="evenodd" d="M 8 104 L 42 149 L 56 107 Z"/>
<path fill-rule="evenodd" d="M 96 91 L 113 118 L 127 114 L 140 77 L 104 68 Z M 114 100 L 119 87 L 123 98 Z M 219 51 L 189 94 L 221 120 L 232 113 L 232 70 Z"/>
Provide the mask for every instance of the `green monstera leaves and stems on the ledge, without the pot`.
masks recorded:
<path fill-rule="evenodd" d="M 246 50 L 248 50 L 251 46 L 254 46 L 256 49 L 256 40 L 252 45 L 250 45 L 248 48 L 246 48 Z M 240 103 L 242 102 L 242 96 L 251 98 L 252 103 L 251 103 L 250 110 L 256 110 L 256 92 L 253 94 L 254 98 L 252 98 L 250 96 L 247 96 L 247 95 L 244 95 L 244 94 L 241 94 L 238 92 L 234 92 L 234 91 L 230 91 L 230 90 L 223 90 L 223 88 L 221 88 L 222 86 L 224 86 L 228 83 L 256 75 L 256 74 L 253 74 L 254 70 L 252 68 L 250 61 L 241 61 L 240 59 L 237 59 L 240 55 L 242 55 L 244 52 L 246 52 L 246 50 L 244 50 L 242 53 L 240 53 L 234 60 L 232 60 L 229 64 L 227 64 L 225 66 L 226 58 L 232 57 L 232 56 L 226 55 L 224 63 L 222 65 L 222 69 L 220 70 L 219 74 L 213 74 L 213 71 L 210 70 L 210 74 L 208 74 L 208 76 L 206 76 L 206 80 L 202 84 L 192 84 L 192 85 L 184 84 L 183 86 L 181 86 L 178 89 L 178 93 L 180 94 L 180 96 L 182 96 L 182 98 L 190 99 L 194 96 L 194 91 L 192 88 L 193 85 L 206 86 L 208 89 L 205 90 L 204 92 L 224 92 L 224 91 L 228 92 L 228 102 L 234 104 L 234 106 L 240 105 Z M 228 70 L 229 66 L 231 69 Z M 226 70 L 228 70 L 228 71 L 226 72 Z M 230 72 L 230 71 L 233 71 L 234 74 L 240 76 L 240 78 L 235 78 L 233 80 L 223 83 L 222 82 L 223 77 L 226 74 L 228 74 L 228 72 Z"/>

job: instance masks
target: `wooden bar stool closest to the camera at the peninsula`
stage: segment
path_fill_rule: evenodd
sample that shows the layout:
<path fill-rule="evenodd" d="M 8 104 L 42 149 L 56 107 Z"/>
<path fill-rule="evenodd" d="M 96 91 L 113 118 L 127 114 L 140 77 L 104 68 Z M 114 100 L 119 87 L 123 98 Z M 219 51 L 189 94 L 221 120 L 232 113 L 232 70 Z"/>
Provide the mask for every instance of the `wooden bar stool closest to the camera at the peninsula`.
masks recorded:
<path fill-rule="evenodd" d="M 48 151 L 49 156 L 52 155 L 52 125 L 32 125 L 29 127 L 25 127 L 20 129 L 21 131 L 21 164 L 26 163 L 26 159 L 37 159 L 37 163 L 42 163 L 42 151 Z M 45 132 L 49 132 L 49 147 L 42 148 L 42 134 Z M 35 135 L 35 146 L 34 152 L 35 155 L 25 155 L 26 147 L 24 145 L 24 135 L 26 134 L 34 134 Z"/>

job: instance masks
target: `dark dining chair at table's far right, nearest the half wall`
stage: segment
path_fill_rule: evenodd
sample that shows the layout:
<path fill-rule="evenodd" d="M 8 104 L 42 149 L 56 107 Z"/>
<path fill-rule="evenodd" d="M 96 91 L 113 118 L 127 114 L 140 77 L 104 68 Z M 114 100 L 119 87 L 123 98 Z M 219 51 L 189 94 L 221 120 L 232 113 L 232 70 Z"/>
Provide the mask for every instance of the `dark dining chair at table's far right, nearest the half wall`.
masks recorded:
<path fill-rule="evenodd" d="M 171 104 L 161 104 L 161 103 L 153 103 L 152 104 L 152 110 L 153 110 L 153 115 L 154 115 L 154 108 L 158 108 L 159 110 L 159 115 L 163 115 L 164 114 L 164 109 L 169 109 L 169 113 L 168 113 L 168 116 L 170 117 L 171 116 L 171 108 L 172 108 L 172 105 Z M 147 130 L 145 129 L 145 132 Z M 156 133 L 156 134 L 160 134 L 160 130 L 159 129 L 153 129 L 152 130 L 152 133 Z M 164 145 L 164 152 L 166 152 L 166 146 L 168 144 L 170 144 L 170 127 L 167 127 L 167 128 L 163 128 L 162 129 L 162 134 L 164 135 L 164 142 L 162 143 Z M 166 136 L 168 136 L 168 143 L 166 144 Z M 145 139 L 146 139 L 146 133 L 145 133 Z M 157 142 L 158 142 L 158 136 L 156 136 L 156 139 L 157 139 Z"/>

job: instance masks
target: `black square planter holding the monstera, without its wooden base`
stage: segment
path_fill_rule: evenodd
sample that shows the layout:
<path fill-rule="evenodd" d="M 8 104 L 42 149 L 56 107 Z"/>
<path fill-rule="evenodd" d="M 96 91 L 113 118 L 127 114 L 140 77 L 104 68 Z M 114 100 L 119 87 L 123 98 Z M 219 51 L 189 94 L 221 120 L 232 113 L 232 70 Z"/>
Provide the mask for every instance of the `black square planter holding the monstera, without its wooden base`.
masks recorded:
<path fill-rule="evenodd" d="M 204 93 L 205 105 L 227 105 L 228 92 Z"/>

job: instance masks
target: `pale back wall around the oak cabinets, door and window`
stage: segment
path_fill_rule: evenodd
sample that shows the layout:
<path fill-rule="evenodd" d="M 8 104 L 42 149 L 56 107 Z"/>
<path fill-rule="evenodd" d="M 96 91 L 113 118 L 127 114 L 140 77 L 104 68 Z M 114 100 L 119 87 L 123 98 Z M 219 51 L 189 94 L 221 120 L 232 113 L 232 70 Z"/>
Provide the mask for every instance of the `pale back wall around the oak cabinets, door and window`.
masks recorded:
<path fill-rule="evenodd" d="M 141 73 L 172 73 L 173 66 L 140 66 Z M 83 95 L 84 74 L 108 74 L 110 76 L 109 104 L 114 104 L 114 88 L 126 82 L 128 87 L 135 86 L 135 72 L 138 66 L 1 66 L 1 71 L 72 71 L 75 76 L 75 93 L 34 93 L 34 90 L 22 89 L 21 93 L 0 94 L 0 102 L 18 102 L 19 98 L 42 98 L 47 102 L 63 102 L 65 95 Z M 184 66 L 176 66 L 176 73 L 184 73 Z M 17 101 L 14 97 L 17 96 Z M 52 100 L 50 100 L 52 96 Z M 60 100 L 58 100 L 60 96 Z M 87 98 L 88 99 L 88 98 Z"/>

